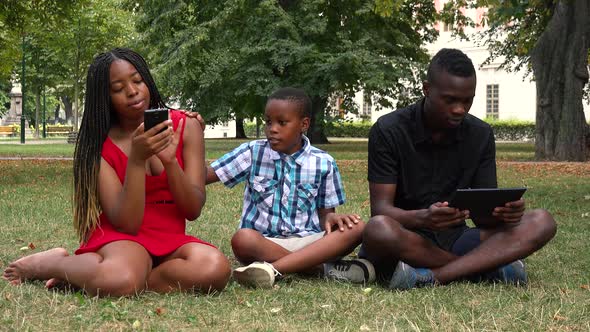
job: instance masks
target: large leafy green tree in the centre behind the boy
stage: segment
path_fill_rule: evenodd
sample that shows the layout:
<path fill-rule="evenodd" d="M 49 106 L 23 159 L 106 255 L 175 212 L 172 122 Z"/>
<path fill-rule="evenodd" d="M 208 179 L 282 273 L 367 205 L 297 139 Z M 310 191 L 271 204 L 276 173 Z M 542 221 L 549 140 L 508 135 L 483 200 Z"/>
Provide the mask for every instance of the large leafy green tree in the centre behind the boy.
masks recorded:
<path fill-rule="evenodd" d="M 164 91 L 209 121 L 260 116 L 281 86 L 313 102 L 313 143 L 329 97 L 354 108 L 360 89 L 380 106 L 407 95 L 428 60 L 430 0 L 134 1 L 142 41 Z M 171 93 L 171 94 L 170 94 Z"/>

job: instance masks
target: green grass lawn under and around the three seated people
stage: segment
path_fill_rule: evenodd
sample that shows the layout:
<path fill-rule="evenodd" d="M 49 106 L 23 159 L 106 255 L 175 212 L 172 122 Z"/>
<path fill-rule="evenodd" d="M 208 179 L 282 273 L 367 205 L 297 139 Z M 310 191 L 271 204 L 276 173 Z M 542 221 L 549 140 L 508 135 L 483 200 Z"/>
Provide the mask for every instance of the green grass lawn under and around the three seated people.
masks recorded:
<path fill-rule="evenodd" d="M 208 140 L 208 158 L 237 144 Z M 0 145 L 0 151 L 4 148 Z M 348 202 L 339 211 L 366 219 L 366 142 L 322 148 L 341 160 Z M 526 259 L 526 287 L 454 283 L 399 292 L 375 284 L 290 276 L 272 290 L 244 289 L 230 281 L 226 290 L 210 296 L 146 293 L 96 299 L 46 291 L 40 282 L 14 287 L 0 280 L 0 330 L 590 330 L 590 166 L 502 161 L 498 165 L 500 186 L 528 186 L 528 206 L 548 209 L 559 224 L 555 239 Z M 0 174 L 0 269 L 33 252 L 77 248 L 71 222 L 71 161 L 0 161 Z M 229 240 L 242 204 L 239 187 L 209 186 L 202 216 L 187 229 L 230 258 Z M 29 243 L 36 249 L 21 250 Z M 238 266 L 233 258 L 231 262 Z"/>

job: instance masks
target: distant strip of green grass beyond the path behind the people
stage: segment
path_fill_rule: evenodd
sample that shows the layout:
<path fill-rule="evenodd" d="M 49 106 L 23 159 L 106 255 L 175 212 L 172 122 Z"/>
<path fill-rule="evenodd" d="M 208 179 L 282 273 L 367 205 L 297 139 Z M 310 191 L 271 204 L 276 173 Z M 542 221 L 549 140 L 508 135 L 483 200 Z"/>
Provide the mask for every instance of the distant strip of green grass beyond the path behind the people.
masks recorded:
<path fill-rule="evenodd" d="M 249 140 L 241 139 L 207 139 L 207 159 L 214 160 L 224 153 Z M 367 159 L 366 140 L 333 139 L 330 144 L 318 144 L 318 148 L 329 152 L 336 160 Z M 496 144 L 498 160 L 529 161 L 535 156 L 532 143 L 498 143 Z M 0 157 L 72 157 L 72 144 L 0 144 Z"/>

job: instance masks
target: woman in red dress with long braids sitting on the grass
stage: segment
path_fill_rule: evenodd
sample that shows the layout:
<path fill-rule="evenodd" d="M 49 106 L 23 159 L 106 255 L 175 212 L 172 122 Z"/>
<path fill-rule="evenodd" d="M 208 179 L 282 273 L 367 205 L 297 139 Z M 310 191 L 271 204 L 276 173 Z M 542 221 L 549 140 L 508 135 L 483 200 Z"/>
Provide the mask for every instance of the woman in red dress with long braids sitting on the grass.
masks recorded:
<path fill-rule="evenodd" d="M 74 154 L 81 246 L 72 256 L 55 248 L 23 257 L 9 264 L 5 279 L 67 282 L 98 296 L 225 287 L 227 258 L 185 234 L 185 220 L 205 204 L 203 129 L 171 110 L 169 120 L 144 131 L 144 111 L 162 107 L 139 54 L 114 49 L 94 59 Z"/>

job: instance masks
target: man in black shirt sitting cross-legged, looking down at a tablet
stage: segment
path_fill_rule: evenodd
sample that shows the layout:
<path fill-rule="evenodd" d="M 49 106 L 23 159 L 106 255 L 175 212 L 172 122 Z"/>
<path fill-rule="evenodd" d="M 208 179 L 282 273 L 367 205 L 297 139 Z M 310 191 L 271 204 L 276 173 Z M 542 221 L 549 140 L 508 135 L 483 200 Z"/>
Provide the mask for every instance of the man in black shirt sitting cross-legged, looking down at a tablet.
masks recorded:
<path fill-rule="evenodd" d="M 497 207 L 494 228 L 470 228 L 469 211 L 449 206 L 459 188 L 495 188 L 494 134 L 468 114 L 475 68 L 461 51 L 432 59 L 424 98 L 382 116 L 369 136 L 371 219 L 361 255 L 390 288 L 453 280 L 524 284 L 521 261 L 555 235 L 545 210 L 525 212 L 524 200 Z"/>

